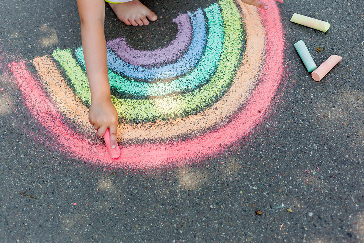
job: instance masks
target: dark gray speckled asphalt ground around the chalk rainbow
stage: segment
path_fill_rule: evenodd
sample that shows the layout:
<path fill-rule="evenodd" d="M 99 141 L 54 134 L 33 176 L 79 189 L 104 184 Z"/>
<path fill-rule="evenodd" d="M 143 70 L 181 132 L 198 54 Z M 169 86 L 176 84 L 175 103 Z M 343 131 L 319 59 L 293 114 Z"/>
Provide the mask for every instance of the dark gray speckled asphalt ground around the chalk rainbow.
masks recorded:
<path fill-rule="evenodd" d="M 143 27 L 125 26 L 107 6 L 106 39 L 122 34 L 135 48 L 163 46 L 177 33 L 178 12 L 213 2 L 148 0 L 159 19 Z M 0 242 L 364 242 L 363 5 L 279 4 L 285 75 L 274 109 L 236 148 L 199 165 L 111 170 L 55 152 L 5 68 Z M 293 12 L 331 28 L 291 23 Z M 76 1 L 1 1 L 0 23 L 3 66 L 81 44 Z M 54 33 L 58 42 L 42 46 Z M 317 64 L 332 54 L 343 60 L 315 82 L 294 50 L 300 39 Z"/>

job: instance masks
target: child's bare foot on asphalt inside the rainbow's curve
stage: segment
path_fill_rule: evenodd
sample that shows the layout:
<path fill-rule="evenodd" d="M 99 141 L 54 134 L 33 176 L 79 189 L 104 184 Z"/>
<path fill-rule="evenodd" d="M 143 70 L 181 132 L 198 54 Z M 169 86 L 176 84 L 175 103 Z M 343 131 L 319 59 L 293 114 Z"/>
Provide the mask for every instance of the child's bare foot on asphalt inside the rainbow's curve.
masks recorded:
<path fill-rule="evenodd" d="M 126 3 L 109 3 L 112 10 L 118 19 L 123 21 L 126 25 L 142 26 L 148 25 L 149 21 L 157 20 L 157 15 L 150 11 L 144 4 L 139 0 L 132 0 Z"/>

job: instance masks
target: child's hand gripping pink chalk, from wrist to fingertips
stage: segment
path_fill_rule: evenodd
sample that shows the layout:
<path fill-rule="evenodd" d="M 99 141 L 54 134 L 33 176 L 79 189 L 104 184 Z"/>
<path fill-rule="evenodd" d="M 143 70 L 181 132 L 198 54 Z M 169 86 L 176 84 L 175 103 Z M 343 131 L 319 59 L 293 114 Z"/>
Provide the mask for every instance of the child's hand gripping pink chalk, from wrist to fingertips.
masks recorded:
<path fill-rule="evenodd" d="M 118 111 L 116 111 L 111 99 L 92 102 L 88 121 L 97 130 L 97 136 L 99 137 L 104 136 L 107 128 L 110 129 L 110 146 L 114 149 L 117 138 Z"/>

